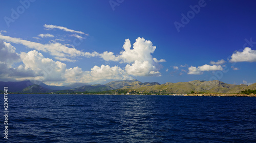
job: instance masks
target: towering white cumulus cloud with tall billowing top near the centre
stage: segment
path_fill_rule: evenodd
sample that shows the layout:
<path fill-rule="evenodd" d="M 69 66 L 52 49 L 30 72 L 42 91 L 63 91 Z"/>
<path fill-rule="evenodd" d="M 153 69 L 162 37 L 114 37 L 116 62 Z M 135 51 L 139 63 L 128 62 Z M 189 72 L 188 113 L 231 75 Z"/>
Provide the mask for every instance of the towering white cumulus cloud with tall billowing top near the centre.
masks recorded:
<path fill-rule="evenodd" d="M 123 45 L 123 51 L 119 55 L 114 55 L 113 52 L 105 51 L 99 56 L 105 61 L 115 61 L 127 63 L 125 71 L 134 76 L 161 76 L 159 62 L 165 62 L 164 59 L 157 60 L 153 58 L 156 46 L 144 38 L 137 38 L 131 49 L 131 41 L 126 39 Z"/>

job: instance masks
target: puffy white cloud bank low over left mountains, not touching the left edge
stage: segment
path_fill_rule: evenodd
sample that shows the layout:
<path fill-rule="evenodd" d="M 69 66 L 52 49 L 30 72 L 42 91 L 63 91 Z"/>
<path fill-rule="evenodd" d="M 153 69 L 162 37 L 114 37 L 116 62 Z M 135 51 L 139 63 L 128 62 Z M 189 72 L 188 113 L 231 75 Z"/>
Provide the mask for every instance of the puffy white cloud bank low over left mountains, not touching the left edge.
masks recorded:
<path fill-rule="evenodd" d="M 24 66 L 34 72 L 35 77 L 30 78 L 39 81 L 48 81 L 55 83 L 62 81 L 67 83 L 74 82 L 99 82 L 107 79 L 123 80 L 132 79 L 123 69 L 118 66 L 110 67 L 109 65 L 94 66 L 91 71 L 82 71 L 79 67 L 67 69 L 66 64 L 52 59 L 45 58 L 44 55 L 36 50 L 20 54 Z"/>

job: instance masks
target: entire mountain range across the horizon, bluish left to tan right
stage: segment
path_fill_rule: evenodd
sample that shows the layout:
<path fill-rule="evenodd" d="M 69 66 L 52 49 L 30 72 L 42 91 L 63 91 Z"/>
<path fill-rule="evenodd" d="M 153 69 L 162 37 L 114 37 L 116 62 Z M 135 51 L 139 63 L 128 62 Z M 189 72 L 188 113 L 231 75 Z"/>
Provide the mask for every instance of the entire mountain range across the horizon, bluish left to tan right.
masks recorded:
<path fill-rule="evenodd" d="M 73 83 L 65 86 L 47 85 L 40 81 L 0 81 L 0 88 L 8 87 L 9 92 L 15 93 L 75 93 L 75 92 L 102 92 L 117 89 L 135 90 L 140 93 L 160 93 L 160 94 L 187 94 L 191 91 L 203 93 L 239 93 L 244 90 L 256 90 L 256 83 L 246 84 L 227 84 L 219 80 L 189 82 L 140 82 L 133 80 L 111 81 L 106 84 Z"/>

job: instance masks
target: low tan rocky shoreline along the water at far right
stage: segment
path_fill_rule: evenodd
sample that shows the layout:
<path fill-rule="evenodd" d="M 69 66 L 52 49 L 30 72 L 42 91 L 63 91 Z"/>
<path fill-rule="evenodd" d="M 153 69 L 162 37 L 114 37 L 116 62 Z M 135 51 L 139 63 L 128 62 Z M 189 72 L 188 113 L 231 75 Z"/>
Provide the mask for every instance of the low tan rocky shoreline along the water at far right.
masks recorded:
<path fill-rule="evenodd" d="M 184 96 L 233 96 L 233 97 L 256 97 L 255 94 L 218 94 L 218 93 L 205 93 L 205 94 L 188 94 Z"/>

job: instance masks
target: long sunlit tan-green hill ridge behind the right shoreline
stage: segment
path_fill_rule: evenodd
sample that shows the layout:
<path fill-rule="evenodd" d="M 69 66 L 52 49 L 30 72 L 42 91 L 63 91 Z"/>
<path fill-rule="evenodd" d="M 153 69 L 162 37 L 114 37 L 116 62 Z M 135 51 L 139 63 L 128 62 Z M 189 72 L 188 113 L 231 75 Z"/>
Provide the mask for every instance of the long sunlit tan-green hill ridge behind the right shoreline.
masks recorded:
<path fill-rule="evenodd" d="M 206 93 L 238 93 L 248 86 L 245 84 L 235 85 L 227 84 L 219 80 L 200 81 L 194 80 L 189 82 L 167 82 L 161 85 L 153 85 L 149 87 L 141 87 L 134 89 L 139 92 L 162 92 L 162 93 L 176 93 L 187 94 L 191 91 L 206 92 Z"/>

